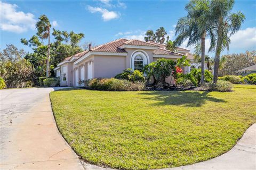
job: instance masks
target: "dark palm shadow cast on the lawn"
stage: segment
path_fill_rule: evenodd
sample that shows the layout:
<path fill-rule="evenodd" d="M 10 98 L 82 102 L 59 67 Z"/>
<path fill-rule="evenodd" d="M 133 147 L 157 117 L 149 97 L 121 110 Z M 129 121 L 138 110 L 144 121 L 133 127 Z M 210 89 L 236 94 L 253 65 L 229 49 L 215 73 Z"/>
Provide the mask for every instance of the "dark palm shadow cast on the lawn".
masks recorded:
<path fill-rule="evenodd" d="M 139 95 L 148 95 L 148 97 L 143 99 L 159 101 L 152 104 L 154 106 L 184 105 L 188 107 L 201 107 L 206 101 L 226 102 L 223 99 L 207 96 L 207 94 L 209 94 L 209 91 L 152 91 L 139 93 Z"/>

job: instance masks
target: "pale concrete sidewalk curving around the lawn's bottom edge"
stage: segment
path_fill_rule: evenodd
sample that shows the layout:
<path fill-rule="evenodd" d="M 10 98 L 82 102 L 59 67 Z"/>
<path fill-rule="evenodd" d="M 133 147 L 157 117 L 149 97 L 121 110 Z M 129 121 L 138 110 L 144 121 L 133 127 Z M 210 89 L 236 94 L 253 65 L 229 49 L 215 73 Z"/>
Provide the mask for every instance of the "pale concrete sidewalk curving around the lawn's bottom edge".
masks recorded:
<path fill-rule="evenodd" d="M 87 163 L 83 163 L 86 170 L 112 170 Z M 225 154 L 204 162 L 163 168 L 161 170 L 188 170 L 188 169 L 256 169 L 256 123 L 250 126 L 237 142 L 237 144 Z M 160 169 L 157 169 L 160 170 Z"/>

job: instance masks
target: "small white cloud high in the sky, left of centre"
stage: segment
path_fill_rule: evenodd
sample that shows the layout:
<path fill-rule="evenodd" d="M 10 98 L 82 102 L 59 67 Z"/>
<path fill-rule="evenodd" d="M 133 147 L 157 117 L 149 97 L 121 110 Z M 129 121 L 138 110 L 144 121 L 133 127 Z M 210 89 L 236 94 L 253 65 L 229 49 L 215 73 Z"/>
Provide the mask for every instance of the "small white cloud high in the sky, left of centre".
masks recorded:
<path fill-rule="evenodd" d="M 105 8 L 87 6 L 87 9 L 91 13 L 100 12 L 102 14 L 103 21 L 110 21 L 110 20 L 119 18 L 119 13 L 117 13 L 115 11 L 108 11 Z"/>

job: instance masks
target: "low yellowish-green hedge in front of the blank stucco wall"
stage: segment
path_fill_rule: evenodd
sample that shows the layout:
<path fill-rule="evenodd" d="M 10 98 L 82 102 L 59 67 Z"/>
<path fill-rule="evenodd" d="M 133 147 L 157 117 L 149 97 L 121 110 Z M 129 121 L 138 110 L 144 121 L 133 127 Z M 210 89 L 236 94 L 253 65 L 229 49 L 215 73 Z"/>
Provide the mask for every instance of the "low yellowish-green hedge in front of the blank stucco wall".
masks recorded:
<path fill-rule="evenodd" d="M 91 79 L 86 86 L 93 90 L 108 91 L 138 91 L 145 88 L 143 82 L 130 82 L 128 80 L 111 79 Z"/>

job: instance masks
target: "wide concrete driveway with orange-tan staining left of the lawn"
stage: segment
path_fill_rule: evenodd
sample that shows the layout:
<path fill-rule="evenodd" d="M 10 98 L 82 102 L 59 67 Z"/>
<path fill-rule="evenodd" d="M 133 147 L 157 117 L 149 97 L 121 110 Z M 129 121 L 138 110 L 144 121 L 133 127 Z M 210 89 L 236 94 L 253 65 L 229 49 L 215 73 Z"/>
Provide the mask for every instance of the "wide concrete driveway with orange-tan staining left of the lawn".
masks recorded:
<path fill-rule="evenodd" d="M 0 169 L 84 169 L 55 125 L 54 89 L 0 90 Z"/>

